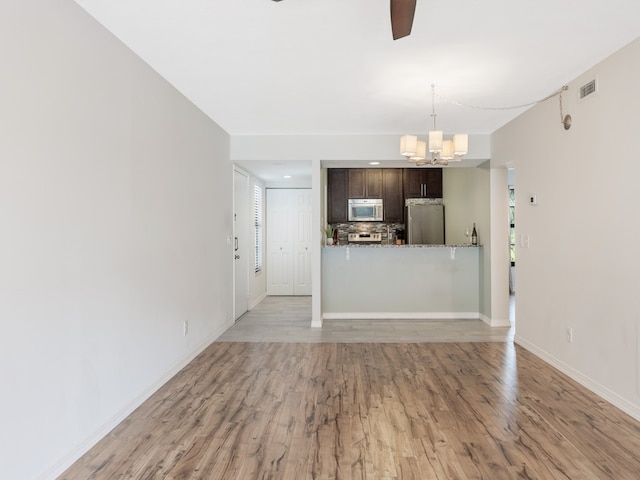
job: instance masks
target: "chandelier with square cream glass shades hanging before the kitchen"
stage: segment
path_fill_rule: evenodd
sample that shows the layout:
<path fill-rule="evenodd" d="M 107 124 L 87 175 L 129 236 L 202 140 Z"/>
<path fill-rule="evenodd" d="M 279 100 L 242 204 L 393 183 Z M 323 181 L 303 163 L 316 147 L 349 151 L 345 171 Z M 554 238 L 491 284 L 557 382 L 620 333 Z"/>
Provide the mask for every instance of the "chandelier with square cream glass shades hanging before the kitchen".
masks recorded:
<path fill-rule="evenodd" d="M 400 137 L 400 155 L 418 166 L 448 165 L 449 162 L 459 162 L 468 151 L 469 136 L 466 133 L 458 133 L 453 138 L 445 140 L 442 130 L 436 129 L 435 92 L 435 85 L 431 84 L 433 130 L 429 131 L 428 141 L 419 140 L 416 135 Z M 427 154 L 430 154 L 431 158 L 427 158 Z"/>

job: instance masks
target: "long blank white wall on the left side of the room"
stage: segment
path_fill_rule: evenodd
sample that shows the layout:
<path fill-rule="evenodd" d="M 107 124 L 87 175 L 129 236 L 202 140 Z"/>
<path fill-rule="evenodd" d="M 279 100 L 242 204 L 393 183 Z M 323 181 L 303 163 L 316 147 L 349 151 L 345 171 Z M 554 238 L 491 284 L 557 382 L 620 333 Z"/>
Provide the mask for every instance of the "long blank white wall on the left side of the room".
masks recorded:
<path fill-rule="evenodd" d="M 0 51 L 0 476 L 52 478 L 232 322 L 229 138 L 71 0 Z"/>

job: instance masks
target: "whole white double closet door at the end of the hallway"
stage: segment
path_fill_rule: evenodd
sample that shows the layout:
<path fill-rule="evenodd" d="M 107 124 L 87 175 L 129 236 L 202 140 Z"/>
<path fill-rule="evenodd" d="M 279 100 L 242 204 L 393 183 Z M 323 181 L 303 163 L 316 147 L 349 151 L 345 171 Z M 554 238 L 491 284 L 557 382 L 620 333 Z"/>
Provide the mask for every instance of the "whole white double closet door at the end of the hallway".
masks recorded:
<path fill-rule="evenodd" d="M 311 190 L 267 190 L 267 294 L 311 295 Z"/>

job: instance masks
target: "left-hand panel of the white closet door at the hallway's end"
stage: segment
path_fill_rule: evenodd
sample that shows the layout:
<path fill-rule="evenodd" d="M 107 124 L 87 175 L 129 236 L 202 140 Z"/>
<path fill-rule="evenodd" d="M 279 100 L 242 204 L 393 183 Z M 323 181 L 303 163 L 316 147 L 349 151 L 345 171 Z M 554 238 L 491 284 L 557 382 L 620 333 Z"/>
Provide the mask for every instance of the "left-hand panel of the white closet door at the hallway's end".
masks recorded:
<path fill-rule="evenodd" d="M 267 189 L 267 295 L 293 295 L 289 190 Z"/>

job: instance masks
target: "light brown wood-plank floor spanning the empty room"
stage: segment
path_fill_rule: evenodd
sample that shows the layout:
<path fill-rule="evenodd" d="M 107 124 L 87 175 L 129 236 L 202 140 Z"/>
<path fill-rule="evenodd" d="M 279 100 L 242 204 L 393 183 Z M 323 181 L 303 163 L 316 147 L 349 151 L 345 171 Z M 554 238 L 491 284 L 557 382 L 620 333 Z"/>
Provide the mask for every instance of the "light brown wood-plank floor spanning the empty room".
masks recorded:
<path fill-rule="evenodd" d="M 389 343 L 340 325 L 331 339 L 304 325 L 304 300 L 270 301 L 60 478 L 640 477 L 640 424 L 515 346 L 508 331 L 502 341 L 464 333 L 455 342 L 438 322 L 413 322 L 401 336 L 444 341 Z M 299 325 L 269 314 L 286 304 Z M 272 332 L 248 328 L 233 340 L 260 318 Z M 370 328 L 398 331 L 384 324 Z"/>

